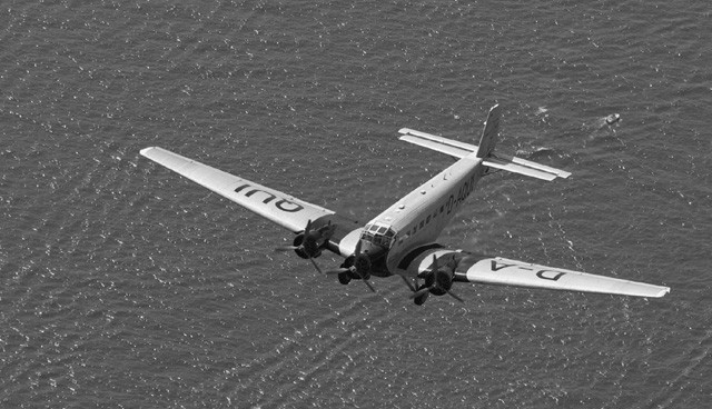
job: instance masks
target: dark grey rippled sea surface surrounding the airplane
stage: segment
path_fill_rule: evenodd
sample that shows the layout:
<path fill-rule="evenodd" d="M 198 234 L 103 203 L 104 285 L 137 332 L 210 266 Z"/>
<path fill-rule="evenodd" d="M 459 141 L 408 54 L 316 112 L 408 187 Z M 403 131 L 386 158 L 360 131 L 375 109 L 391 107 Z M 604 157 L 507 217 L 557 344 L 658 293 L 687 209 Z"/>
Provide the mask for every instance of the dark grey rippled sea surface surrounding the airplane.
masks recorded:
<path fill-rule="evenodd" d="M 0 407 L 706 408 L 706 1 L 2 1 Z M 444 245 L 672 288 L 340 286 L 160 146 L 367 221 L 452 163 Z M 604 118 L 617 112 L 621 121 Z M 322 266 L 340 260 L 322 257 Z"/>

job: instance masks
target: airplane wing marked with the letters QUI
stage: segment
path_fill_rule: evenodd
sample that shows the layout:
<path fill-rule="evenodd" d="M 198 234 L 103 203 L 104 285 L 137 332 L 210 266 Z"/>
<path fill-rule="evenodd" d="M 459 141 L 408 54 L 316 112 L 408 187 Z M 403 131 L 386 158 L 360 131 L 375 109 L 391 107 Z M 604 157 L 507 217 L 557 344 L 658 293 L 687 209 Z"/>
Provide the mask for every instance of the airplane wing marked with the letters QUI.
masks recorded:
<path fill-rule="evenodd" d="M 324 216 L 334 215 L 332 210 L 238 178 L 162 148 L 146 148 L 141 150 L 141 154 L 293 232 L 304 230 L 309 220 L 314 221 Z"/>

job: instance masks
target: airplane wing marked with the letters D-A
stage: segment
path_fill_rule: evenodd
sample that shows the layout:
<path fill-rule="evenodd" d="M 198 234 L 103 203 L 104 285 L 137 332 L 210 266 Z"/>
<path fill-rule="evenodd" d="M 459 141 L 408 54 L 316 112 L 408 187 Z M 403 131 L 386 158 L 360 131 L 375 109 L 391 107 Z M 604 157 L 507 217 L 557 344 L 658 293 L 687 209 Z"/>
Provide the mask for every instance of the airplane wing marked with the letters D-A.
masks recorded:
<path fill-rule="evenodd" d="M 478 258 L 476 261 L 465 257 L 457 266 L 455 280 L 635 297 L 657 298 L 670 292 L 669 287 L 532 265 L 500 257 Z"/>

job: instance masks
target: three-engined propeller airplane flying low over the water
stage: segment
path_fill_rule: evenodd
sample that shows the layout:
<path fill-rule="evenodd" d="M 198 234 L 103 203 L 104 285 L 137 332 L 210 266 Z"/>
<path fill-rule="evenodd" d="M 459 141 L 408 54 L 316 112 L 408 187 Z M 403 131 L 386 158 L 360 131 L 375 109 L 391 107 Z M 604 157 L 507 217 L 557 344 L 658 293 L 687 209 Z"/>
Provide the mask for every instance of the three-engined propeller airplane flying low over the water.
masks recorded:
<path fill-rule="evenodd" d="M 418 306 L 431 295 L 448 295 L 463 302 L 452 291 L 455 282 L 653 298 L 670 292 L 669 287 L 483 256 L 437 243 L 443 229 L 483 177 L 501 170 L 546 181 L 571 176 L 561 169 L 495 153 L 501 114 L 498 104 L 490 110 L 477 146 L 400 129 L 400 140 L 457 161 L 366 225 L 159 147 L 141 149 L 140 153 L 291 231 L 293 246 L 276 250 L 294 250 L 320 275 L 337 276 L 343 285 L 359 280 L 374 292 L 372 277 L 400 276 Z M 315 259 L 324 250 L 344 258 L 339 268 L 319 268 Z"/>

